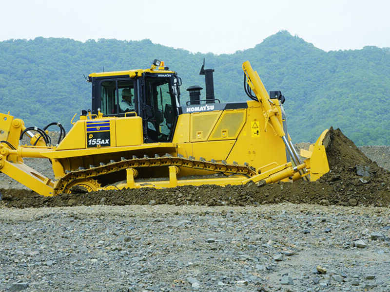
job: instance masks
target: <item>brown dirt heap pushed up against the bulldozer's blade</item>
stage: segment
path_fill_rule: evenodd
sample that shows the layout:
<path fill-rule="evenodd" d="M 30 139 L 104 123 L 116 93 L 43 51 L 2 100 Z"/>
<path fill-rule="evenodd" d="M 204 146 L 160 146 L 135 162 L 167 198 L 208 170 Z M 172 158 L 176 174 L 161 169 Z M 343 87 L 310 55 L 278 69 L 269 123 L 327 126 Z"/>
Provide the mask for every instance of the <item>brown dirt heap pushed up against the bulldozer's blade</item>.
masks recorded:
<path fill-rule="evenodd" d="M 349 205 L 389 205 L 390 172 L 371 161 L 340 129 L 331 128 L 324 139 L 331 171 L 318 180 L 333 189 L 334 197 Z"/>

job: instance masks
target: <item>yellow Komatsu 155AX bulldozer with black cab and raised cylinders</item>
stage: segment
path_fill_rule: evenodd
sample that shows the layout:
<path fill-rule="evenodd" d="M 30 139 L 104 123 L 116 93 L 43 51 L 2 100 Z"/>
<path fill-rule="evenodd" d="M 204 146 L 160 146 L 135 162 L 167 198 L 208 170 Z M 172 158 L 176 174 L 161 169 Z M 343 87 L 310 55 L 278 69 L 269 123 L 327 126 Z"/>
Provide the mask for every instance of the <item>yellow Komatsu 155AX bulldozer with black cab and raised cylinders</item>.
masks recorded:
<path fill-rule="evenodd" d="M 52 145 L 45 128 L 25 127 L 0 113 L 0 171 L 43 196 L 86 191 L 177 185 L 259 185 L 303 179 L 329 171 L 322 141 L 294 149 L 280 91 L 270 95 L 250 63 L 242 64 L 244 91 L 251 100 L 221 103 L 214 95 L 213 69 L 205 75 L 206 98 L 191 86 L 180 102 L 181 79 L 155 59 L 151 68 L 91 73 L 92 110 L 60 125 Z M 51 124 L 49 124 L 51 125 Z M 48 125 L 48 126 L 49 126 Z M 22 145 L 23 137 L 31 145 Z M 49 159 L 54 179 L 24 164 Z"/>

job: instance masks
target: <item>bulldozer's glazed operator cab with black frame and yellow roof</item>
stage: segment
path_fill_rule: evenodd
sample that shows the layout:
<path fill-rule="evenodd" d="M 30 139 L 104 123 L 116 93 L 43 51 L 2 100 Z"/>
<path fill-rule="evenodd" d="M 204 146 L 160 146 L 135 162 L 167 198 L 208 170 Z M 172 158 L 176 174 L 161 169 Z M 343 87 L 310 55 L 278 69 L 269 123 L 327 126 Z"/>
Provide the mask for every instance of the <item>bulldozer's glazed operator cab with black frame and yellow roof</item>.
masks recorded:
<path fill-rule="evenodd" d="M 92 83 L 93 114 L 140 116 L 144 143 L 172 142 L 180 107 L 175 72 L 147 69 L 93 73 L 88 81 Z M 131 130 L 123 134 L 131 134 Z"/>

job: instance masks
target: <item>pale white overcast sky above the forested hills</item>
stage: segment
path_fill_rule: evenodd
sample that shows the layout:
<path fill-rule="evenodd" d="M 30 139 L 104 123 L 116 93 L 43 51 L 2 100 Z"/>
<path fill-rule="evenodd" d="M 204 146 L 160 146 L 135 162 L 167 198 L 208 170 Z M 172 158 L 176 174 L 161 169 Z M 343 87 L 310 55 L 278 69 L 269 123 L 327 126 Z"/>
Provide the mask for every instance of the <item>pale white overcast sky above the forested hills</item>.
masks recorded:
<path fill-rule="evenodd" d="M 230 54 L 287 30 L 325 51 L 390 47 L 390 0 L 7 0 L 1 11 L 0 40 L 148 38 Z"/>

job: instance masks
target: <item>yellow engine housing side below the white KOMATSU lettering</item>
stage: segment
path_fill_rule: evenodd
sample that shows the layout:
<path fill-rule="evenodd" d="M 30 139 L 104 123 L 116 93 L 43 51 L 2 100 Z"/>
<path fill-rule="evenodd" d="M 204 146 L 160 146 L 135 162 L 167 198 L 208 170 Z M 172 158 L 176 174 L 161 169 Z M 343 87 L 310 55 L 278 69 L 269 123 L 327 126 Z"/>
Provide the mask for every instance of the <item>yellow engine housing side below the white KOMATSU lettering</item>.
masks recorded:
<path fill-rule="evenodd" d="M 277 100 L 276 118 L 281 123 Z M 287 163 L 285 145 L 267 119 L 261 103 L 246 109 L 215 110 L 179 115 L 174 142 L 177 152 L 206 160 L 248 163 L 263 170 Z M 269 168 L 268 167 L 268 168 Z"/>

